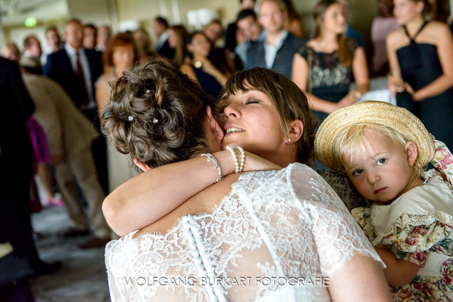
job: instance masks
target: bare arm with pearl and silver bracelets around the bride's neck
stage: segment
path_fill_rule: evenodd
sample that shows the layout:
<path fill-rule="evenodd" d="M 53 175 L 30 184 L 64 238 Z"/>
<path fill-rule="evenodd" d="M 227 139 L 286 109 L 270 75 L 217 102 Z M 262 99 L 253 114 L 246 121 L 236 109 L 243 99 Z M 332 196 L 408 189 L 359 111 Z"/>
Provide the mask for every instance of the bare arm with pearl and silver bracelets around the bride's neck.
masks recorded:
<path fill-rule="evenodd" d="M 236 150 L 238 159 L 241 155 Z M 228 150 L 213 153 L 222 176 L 235 172 Z M 244 171 L 275 170 L 280 167 L 246 152 Z M 210 186 L 218 171 L 206 156 L 192 158 L 141 173 L 111 192 L 102 204 L 102 211 L 112 230 L 124 236 L 164 217 L 191 196 Z M 133 192 L 133 193 L 132 193 Z"/>

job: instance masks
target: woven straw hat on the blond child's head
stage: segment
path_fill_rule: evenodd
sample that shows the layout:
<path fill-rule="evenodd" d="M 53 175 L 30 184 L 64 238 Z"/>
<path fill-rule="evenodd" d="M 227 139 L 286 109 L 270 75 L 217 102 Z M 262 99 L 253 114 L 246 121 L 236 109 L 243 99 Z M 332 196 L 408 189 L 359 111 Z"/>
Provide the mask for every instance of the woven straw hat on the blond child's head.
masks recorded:
<path fill-rule="evenodd" d="M 317 158 L 331 169 L 338 170 L 333 156 L 333 143 L 346 127 L 358 123 L 378 123 L 405 134 L 418 147 L 418 161 L 425 165 L 435 154 L 433 136 L 423 123 L 404 108 L 386 102 L 363 100 L 330 114 L 319 126 L 315 138 Z"/>

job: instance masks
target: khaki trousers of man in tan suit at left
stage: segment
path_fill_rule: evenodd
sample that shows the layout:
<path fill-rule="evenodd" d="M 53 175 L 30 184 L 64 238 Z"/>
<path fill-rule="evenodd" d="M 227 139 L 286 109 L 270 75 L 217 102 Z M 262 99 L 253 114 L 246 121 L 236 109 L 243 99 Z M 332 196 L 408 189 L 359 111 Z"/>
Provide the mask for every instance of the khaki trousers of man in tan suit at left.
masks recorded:
<path fill-rule="evenodd" d="M 87 216 L 77 188 L 79 184 L 87 199 L 88 218 L 94 235 L 110 238 L 111 230 L 102 214 L 105 194 L 99 183 L 90 146 L 56 166 L 55 178 L 72 226 L 78 230 L 88 230 Z"/>

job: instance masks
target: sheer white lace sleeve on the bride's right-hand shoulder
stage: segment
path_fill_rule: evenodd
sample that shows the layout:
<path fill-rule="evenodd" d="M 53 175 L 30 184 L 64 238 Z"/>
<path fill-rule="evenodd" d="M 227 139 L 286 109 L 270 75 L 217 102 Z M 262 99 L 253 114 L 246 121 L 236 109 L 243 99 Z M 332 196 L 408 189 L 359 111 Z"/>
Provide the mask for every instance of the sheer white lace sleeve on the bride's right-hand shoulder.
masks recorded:
<path fill-rule="evenodd" d="M 318 173 L 305 165 L 295 165 L 290 177 L 296 197 L 311 217 L 312 233 L 325 276 L 335 274 L 357 253 L 371 257 L 385 267 L 340 198 Z"/>

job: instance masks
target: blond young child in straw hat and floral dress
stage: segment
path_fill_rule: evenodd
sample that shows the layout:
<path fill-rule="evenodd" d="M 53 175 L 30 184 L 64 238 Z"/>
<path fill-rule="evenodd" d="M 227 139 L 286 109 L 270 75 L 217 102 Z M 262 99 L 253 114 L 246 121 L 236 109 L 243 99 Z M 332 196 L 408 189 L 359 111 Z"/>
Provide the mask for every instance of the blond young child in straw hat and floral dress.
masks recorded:
<path fill-rule="evenodd" d="M 387 265 L 395 301 L 453 301 L 453 187 L 432 169 L 432 136 L 409 111 L 363 101 L 332 113 L 318 159 L 375 203 L 351 214 Z"/>

